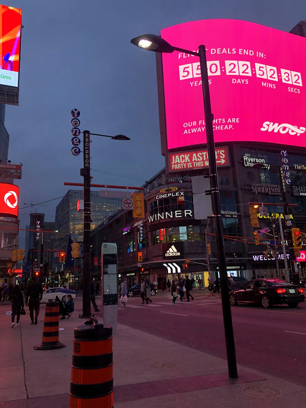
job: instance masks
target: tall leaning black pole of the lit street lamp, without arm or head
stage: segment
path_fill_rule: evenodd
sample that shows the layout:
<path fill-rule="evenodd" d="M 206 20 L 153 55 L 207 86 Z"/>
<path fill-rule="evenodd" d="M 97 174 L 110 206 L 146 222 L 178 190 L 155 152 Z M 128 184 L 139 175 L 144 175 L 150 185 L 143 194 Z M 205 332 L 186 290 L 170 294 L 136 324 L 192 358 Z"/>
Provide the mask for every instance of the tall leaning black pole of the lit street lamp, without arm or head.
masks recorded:
<path fill-rule="evenodd" d="M 225 332 L 225 341 L 226 341 L 228 375 L 230 378 L 237 378 L 238 374 L 237 374 L 237 364 L 236 364 L 235 341 L 234 341 L 234 333 L 233 333 L 231 304 L 229 301 L 226 256 L 225 256 L 224 239 L 223 239 L 223 225 L 222 225 L 221 207 L 220 207 L 217 163 L 216 163 L 216 156 L 215 156 L 215 140 L 213 136 L 213 115 L 211 113 L 211 99 L 210 99 L 209 85 L 208 85 L 206 50 L 205 50 L 204 45 L 200 45 L 199 55 L 200 55 L 200 69 L 201 69 L 202 89 L 203 89 L 203 99 L 204 99 L 204 116 L 205 116 L 205 129 L 206 129 L 206 137 L 207 137 L 208 161 L 209 161 L 209 177 L 211 181 L 211 201 L 212 201 L 212 208 L 213 208 L 213 217 L 215 220 L 217 262 L 218 262 L 219 272 L 220 272 L 222 313 L 223 313 L 224 332 Z"/>

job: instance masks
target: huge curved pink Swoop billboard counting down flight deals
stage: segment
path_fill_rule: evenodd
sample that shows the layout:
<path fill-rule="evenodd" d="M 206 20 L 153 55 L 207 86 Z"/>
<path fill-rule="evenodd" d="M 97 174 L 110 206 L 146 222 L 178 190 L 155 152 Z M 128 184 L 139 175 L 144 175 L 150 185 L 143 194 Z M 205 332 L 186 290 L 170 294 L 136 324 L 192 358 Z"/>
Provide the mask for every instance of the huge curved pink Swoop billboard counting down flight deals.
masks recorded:
<path fill-rule="evenodd" d="M 206 46 L 215 142 L 306 143 L 306 39 L 239 20 L 163 29 L 174 47 Z M 206 143 L 199 58 L 162 54 L 168 149 Z"/>

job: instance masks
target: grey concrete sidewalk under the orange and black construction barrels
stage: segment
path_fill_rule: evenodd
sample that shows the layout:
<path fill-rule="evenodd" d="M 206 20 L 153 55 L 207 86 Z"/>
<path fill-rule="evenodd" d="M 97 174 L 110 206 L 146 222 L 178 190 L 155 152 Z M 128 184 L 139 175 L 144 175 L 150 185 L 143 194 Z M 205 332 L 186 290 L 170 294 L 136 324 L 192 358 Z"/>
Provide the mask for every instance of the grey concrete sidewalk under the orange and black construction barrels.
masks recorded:
<path fill-rule="evenodd" d="M 36 351 L 44 305 L 37 326 L 26 315 L 12 329 L 10 316 L 0 311 L 0 407 L 68 407 L 73 329 L 83 324 L 77 313 L 60 320 L 65 348 Z M 304 387 L 242 366 L 239 378 L 228 380 L 225 360 L 121 324 L 113 336 L 113 362 L 116 408 L 306 406 Z"/>

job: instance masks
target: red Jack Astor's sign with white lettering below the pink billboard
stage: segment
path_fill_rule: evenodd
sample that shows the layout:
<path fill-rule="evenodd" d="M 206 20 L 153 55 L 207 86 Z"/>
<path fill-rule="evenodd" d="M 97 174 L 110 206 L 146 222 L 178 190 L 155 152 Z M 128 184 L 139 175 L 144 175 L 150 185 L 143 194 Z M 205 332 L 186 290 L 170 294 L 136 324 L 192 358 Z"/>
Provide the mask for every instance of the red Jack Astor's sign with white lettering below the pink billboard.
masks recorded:
<path fill-rule="evenodd" d="M 229 166 L 228 148 L 215 149 L 218 167 Z M 208 151 L 194 150 L 181 153 L 168 153 L 169 172 L 177 170 L 207 169 L 209 166 Z"/>

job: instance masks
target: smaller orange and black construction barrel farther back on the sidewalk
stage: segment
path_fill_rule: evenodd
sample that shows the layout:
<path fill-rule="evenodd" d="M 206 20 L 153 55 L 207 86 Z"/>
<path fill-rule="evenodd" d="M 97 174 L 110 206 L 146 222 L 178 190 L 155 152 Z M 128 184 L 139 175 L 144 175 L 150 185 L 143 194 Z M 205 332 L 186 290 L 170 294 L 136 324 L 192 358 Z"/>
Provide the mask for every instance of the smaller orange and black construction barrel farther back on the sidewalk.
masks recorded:
<path fill-rule="evenodd" d="M 42 329 L 42 342 L 35 346 L 35 350 L 54 350 L 55 348 L 66 347 L 66 344 L 58 341 L 59 323 L 58 302 L 47 302 L 44 313 L 44 328 Z"/>

